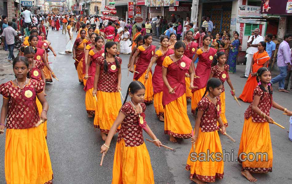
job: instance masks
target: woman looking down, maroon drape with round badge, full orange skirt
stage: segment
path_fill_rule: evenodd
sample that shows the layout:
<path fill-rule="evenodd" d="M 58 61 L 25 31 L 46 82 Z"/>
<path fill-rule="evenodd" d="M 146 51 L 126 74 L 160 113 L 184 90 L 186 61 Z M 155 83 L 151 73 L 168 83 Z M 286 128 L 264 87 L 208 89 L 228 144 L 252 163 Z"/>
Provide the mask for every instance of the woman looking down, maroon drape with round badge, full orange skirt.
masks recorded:
<path fill-rule="evenodd" d="M 190 74 L 190 87 L 193 88 L 194 73 L 191 59 L 183 55 L 186 45 L 182 41 L 174 45 L 174 54 L 165 57 L 162 63 L 164 106 L 164 134 L 171 142 L 176 138 L 191 138 L 192 127 L 187 116 L 185 73 Z"/>

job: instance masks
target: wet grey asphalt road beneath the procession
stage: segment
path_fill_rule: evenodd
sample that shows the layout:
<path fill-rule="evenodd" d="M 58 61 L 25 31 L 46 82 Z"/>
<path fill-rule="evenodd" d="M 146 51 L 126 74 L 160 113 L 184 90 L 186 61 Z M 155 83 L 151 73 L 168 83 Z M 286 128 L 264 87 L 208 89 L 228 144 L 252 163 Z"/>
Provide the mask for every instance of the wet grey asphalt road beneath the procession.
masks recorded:
<path fill-rule="evenodd" d="M 74 33 L 74 36 L 76 34 Z M 49 32 L 49 41 L 56 53 L 65 50 L 65 34 L 61 31 Z M 127 63 L 129 55 L 120 55 L 122 64 L 122 94 L 125 96 L 128 84 L 132 81 L 132 74 L 127 77 Z M 59 55 L 54 61 L 52 52 L 49 53 L 49 61 L 53 62 L 51 67 L 60 80 L 53 83 L 47 83 L 46 97 L 49 102 L 48 112 L 48 139 L 50 158 L 52 162 L 55 184 L 93 184 L 93 183 L 111 183 L 112 165 L 115 143 L 117 135 L 112 140 L 111 148 L 105 156 L 103 166 L 100 167 L 101 160 L 100 147 L 104 143 L 99 130 L 94 130 L 93 118 L 88 118 L 85 110 L 85 92 L 83 86 L 79 84 L 77 72 L 74 67 L 72 56 Z M 243 90 L 246 79 L 240 78 L 245 70 L 245 66 L 237 65 L 237 73 L 230 74 L 236 94 Z M 12 65 L 11 65 L 12 72 Z M 6 79 L 0 80 L 0 83 L 13 79 L 13 75 L 7 75 Z M 274 85 L 273 98 L 276 102 L 292 109 L 292 93 L 280 93 Z M 229 127 L 227 133 L 236 139 L 236 143 L 231 142 L 226 136 L 220 135 L 222 148 L 226 152 L 233 152 L 234 159 L 237 158 L 237 151 L 241 132 L 243 128 L 244 112 L 247 109 L 247 103 L 241 102 L 239 107 L 232 98 L 230 87 L 226 88 L 226 117 Z M 2 98 L 0 99 L 2 105 Z M 194 127 L 195 121 L 191 115 L 191 103 L 187 106 L 188 115 L 191 124 Z M 281 129 L 278 126 L 270 125 L 272 145 L 273 145 L 273 172 L 268 174 L 254 174 L 258 179 L 257 183 L 265 184 L 288 184 L 292 180 L 291 172 L 291 153 L 292 142 L 288 139 L 287 130 L 289 129 L 289 118 L 282 115 L 277 109 L 271 109 L 271 117 L 276 122 L 286 127 Z M 157 184 L 189 184 L 194 183 L 189 180 L 189 171 L 185 170 L 187 156 L 191 149 L 190 140 L 179 140 L 178 143 L 171 143 L 169 136 L 164 135 L 164 124 L 158 121 L 153 105 L 148 105 L 146 110 L 146 121 L 161 140 L 161 142 L 174 151 L 164 148 L 157 148 L 154 144 L 146 142 L 152 168 L 154 172 L 155 183 Z M 144 138 L 149 138 L 144 133 Z M 4 174 L 4 151 L 5 136 L 0 136 L 0 184 L 5 182 Z M 249 183 L 241 174 L 241 165 L 236 161 L 224 163 L 224 178 L 217 183 L 225 184 L 243 184 Z"/>

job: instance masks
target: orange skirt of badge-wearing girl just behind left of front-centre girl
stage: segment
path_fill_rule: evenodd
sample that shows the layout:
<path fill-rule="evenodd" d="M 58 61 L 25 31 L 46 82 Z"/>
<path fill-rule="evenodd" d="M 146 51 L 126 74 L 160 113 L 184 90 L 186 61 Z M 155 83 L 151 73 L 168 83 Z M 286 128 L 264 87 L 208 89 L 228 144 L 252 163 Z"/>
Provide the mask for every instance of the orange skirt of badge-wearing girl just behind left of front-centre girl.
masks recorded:
<path fill-rule="evenodd" d="M 113 122 L 116 120 L 122 106 L 119 92 L 104 92 L 97 90 L 98 108 L 95 110 L 94 128 L 100 128 L 101 132 L 109 133 Z M 120 129 L 120 127 L 118 128 Z"/>

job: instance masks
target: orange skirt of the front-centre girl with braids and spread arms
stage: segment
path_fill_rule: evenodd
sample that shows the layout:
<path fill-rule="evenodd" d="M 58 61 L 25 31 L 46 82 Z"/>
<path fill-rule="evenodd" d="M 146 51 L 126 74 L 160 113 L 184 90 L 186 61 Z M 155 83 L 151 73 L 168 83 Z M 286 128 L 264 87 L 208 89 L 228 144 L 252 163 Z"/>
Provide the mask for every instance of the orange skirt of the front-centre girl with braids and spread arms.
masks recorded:
<path fill-rule="evenodd" d="M 145 143 L 126 147 L 124 139 L 116 143 L 112 168 L 112 184 L 154 184 L 150 156 Z"/>

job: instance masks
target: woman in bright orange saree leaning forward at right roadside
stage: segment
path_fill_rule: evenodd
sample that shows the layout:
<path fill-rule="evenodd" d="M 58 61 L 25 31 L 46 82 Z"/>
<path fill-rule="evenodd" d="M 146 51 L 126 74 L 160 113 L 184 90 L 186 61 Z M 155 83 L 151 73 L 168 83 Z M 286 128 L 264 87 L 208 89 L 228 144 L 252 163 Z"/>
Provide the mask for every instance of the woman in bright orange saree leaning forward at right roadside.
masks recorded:
<path fill-rule="evenodd" d="M 257 71 L 261 67 L 268 67 L 269 55 L 266 52 L 266 42 L 261 41 L 258 43 L 258 52 L 254 53 L 253 60 L 251 61 L 251 73 L 247 78 L 247 82 L 243 88 L 242 94 L 238 99 L 243 102 L 251 103 L 252 95 L 255 87 L 258 85 L 257 82 Z"/>

